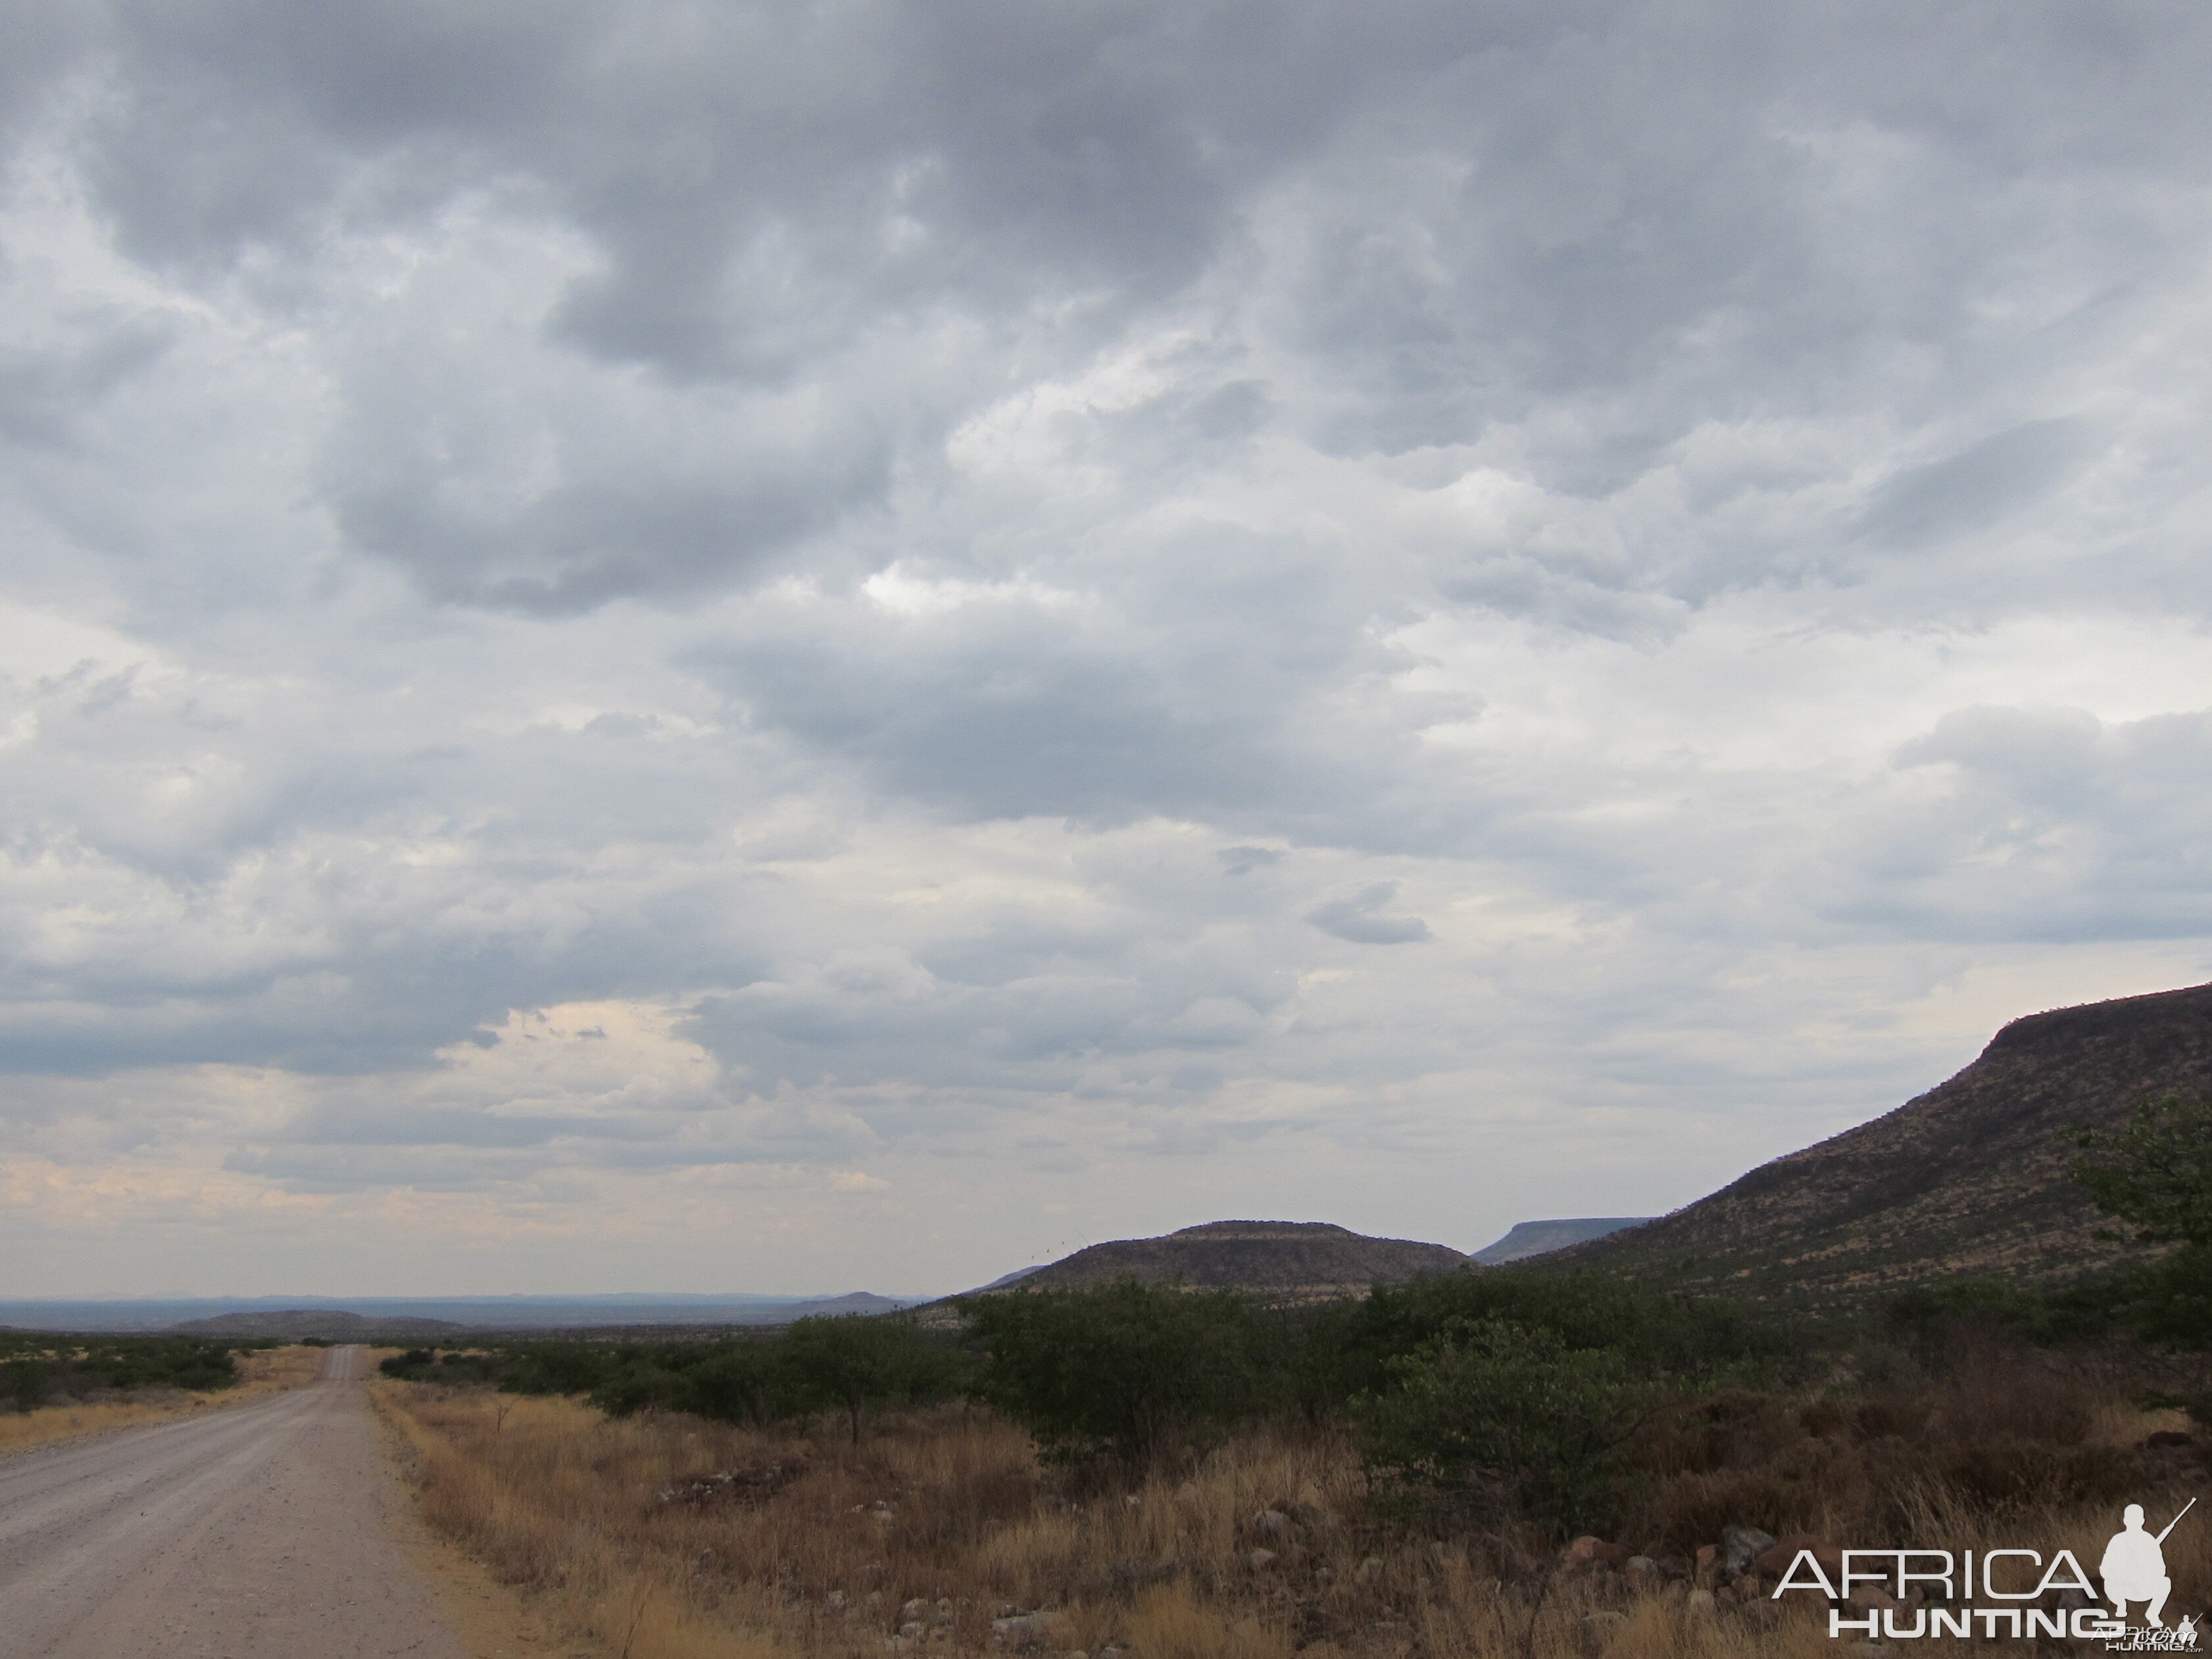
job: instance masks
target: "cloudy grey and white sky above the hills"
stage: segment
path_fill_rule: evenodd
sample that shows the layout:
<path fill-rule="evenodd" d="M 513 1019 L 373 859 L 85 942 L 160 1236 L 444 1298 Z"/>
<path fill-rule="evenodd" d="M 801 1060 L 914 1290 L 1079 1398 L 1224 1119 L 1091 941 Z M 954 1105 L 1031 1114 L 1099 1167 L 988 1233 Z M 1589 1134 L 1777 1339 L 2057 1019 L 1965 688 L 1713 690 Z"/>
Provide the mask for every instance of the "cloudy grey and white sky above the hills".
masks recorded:
<path fill-rule="evenodd" d="M 1478 1248 L 2212 978 L 2201 4 L 4 13 L 0 1294 Z"/>

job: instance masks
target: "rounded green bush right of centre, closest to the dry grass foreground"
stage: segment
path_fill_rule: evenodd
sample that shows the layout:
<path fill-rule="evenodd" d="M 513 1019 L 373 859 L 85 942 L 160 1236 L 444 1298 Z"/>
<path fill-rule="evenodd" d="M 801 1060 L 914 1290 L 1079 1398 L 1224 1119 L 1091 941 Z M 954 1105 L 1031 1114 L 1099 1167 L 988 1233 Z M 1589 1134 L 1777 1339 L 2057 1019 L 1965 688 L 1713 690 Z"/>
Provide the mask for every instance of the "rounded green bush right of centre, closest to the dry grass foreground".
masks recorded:
<path fill-rule="evenodd" d="M 1385 1363 L 1387 1389 L 1352 1405 L 1385 1493 L 1444 1520 L 1610 1531 L 1621 1447 L 1663 1385 L 1619 1347 L 1500 1318 L 1449 1321 Z"/>

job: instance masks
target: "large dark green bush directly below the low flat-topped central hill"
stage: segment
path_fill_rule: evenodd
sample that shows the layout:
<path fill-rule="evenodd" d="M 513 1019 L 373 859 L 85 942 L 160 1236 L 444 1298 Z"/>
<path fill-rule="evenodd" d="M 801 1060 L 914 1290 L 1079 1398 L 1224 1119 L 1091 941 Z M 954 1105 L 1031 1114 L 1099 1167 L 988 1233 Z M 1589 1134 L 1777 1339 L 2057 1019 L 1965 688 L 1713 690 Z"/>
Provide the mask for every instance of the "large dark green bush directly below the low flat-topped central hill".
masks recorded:
<path fill-rule="evenodd" d="M 987 1354 L 984 1398 L 1060 1460 L 1146 1462 L 1287 1391 L 1281 1332 L 1234 1292 L 1121 1279 L 958 1307 Z"/>

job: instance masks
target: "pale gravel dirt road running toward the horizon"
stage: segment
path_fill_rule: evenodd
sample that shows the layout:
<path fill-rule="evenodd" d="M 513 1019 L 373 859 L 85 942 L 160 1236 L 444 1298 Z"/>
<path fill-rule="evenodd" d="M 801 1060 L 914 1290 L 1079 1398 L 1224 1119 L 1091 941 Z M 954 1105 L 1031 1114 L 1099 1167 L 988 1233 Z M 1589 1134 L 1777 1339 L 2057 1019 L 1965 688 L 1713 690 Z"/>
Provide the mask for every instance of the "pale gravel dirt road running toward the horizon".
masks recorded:
<path fill-rule="evenodd" d="M 0 1460 L 0 1659 L 465 1659 L 365 1374 L 336 1347 L 292 1394 Z"/>

